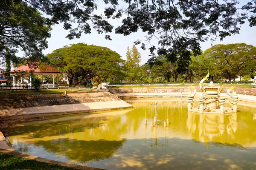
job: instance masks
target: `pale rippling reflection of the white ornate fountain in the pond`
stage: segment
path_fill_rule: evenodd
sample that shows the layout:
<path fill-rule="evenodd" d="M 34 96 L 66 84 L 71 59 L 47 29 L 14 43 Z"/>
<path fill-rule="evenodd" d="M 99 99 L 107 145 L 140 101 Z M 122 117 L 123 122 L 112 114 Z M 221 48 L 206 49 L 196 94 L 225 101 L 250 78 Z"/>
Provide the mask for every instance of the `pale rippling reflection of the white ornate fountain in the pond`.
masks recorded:
<path fill-rule="evenodd" d="M 208 142 L 236 143 L 237 127 L 237 113 L 230 115 L 188 113 L 187 128 L 192 133 L 193 139 L 204 142 L 207 146 Z"/>

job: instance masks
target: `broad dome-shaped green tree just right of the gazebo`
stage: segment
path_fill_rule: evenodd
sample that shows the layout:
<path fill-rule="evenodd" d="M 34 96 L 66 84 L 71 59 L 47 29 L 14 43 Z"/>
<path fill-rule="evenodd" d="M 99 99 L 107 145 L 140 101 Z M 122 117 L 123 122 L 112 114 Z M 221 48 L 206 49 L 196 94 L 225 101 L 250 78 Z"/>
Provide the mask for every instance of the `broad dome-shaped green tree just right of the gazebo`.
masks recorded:
<path fill-rule="evenodd" d="M 95 76 L 106 80 L 111 75 L 119 74 L 124 62 L 119 54 L 109 48 L 84 43 L 55 50 L 47 57 L 52 65 L 64 66 L 64 71 L 70 77 L 70 85 L 75 74 L 80 77 L 74 85 Z"/>

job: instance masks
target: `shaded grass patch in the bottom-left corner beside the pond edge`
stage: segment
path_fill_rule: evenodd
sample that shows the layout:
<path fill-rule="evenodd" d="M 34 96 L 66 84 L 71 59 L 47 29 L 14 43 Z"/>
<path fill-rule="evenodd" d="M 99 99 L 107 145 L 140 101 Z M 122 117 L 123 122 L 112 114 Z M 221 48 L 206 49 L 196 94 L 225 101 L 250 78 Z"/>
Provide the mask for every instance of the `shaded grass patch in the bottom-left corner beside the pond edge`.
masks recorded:
<path fill-rule="evenodd" d="M 0 153 L 0 170 L 75 170 L 57 164 L 48 164 L 32 159 Z"/>

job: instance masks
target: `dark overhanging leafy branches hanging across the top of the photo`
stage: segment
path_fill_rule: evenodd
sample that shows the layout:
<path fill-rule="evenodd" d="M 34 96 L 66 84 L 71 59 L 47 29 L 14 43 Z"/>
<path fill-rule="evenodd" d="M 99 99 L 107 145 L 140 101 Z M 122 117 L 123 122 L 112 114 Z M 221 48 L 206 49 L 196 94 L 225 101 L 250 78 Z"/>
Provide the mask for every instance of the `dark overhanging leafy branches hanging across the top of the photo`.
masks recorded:
<path fill-rule="evenodd" d="M 247 20 L 249 26 L 256 26 L 256 0 L 103 0 L 104 3 L 91 0 L 1 0 L 1 11 L 15 5 L 28 6 L 43 11 L 49 18 L 47 24 L 64 23 L 64 29 L 70 30 L 67 38 L 90 34 L 94 28 L 99 34 L 111 40 L 108 33 L 130 35 L 139 29 L 148 36 L 145 41 L 157 37 L 160 47 L 151 46 L 151 62 L 158 56 L 168 58 L 183 56 L 181 60 L 190 61 L 190 51 L 201 54 L 200 42 L 214 37 L 238 34 L 240 26 Z M 124 8 L 127 6 L 127 8 Z M 96 14 L 97 8 L 105 8 L 104 15 Z M 22 11 L 22 10 L 20 10 Z M 2 12 L 1 14 L 4 14 Z M 108 20 L 122 17 L 121 26 L 114 28 Z M 4 20 L 3 20 L 4 21 Z M 72 25 L 72 23 L 74 23 Z M 12 36 L 14 37 L 14 36 Z M 33 44 L 33 43 L 31 43 Z M 137 40 L 145 49 L 146 42 Z M 44 45 L 43 45 L 44 46 Z M 188 51 L 188 52 L 187 52 Z M 183 62 L 182 62 L 183 63 Z M 182 64 L 181 63 L 181 64 Z"/>

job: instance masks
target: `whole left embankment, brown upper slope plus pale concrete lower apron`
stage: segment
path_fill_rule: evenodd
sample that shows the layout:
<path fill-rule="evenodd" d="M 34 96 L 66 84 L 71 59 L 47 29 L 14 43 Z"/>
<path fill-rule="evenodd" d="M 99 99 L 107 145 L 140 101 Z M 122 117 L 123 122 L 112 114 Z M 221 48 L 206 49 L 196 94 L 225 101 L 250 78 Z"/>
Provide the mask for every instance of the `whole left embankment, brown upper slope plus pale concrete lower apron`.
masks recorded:
<path fill-rule="evenodd" d="M 61 94 L 27 94 L 2 96 L 0 116 L 6 119 L 26 119 L 93 111 L 132 108 L 133 106 L 109 92 Z"/>

